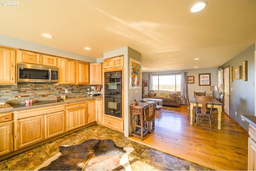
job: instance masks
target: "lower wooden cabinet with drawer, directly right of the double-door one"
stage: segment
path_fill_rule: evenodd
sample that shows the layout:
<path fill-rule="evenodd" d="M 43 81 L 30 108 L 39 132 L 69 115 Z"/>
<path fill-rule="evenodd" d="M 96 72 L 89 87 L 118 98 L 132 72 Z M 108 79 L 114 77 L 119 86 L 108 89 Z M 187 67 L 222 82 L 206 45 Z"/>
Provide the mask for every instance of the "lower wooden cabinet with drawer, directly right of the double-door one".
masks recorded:
<path fill-rule="evenodd" d="M 67 105 L 67 125 L 68 131 L 87 124 L 87 101 L 68 103 Z"/>

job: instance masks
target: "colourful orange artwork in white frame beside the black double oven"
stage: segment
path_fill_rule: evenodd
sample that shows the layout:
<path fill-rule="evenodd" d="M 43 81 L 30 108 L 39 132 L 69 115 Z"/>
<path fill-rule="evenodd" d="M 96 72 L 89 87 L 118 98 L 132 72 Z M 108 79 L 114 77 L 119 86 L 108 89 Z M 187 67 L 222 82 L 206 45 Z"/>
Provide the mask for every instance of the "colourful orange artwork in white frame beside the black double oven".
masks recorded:
<path fill-rule="evenodd" d="M 141 89 L 141 62 L 130 58 L 130 89 Z"/>

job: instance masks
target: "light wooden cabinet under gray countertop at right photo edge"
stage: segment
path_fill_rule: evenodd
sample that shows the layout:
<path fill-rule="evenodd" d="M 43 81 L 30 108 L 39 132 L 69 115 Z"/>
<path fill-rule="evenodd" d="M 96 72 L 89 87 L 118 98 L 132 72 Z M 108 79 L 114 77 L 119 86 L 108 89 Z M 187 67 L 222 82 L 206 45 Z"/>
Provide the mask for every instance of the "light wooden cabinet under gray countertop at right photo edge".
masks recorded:
<path fill-rule="evenodd" d="M 249 125 L 248 131 L 248 171 L 256 170 L 256 128 Z"/>

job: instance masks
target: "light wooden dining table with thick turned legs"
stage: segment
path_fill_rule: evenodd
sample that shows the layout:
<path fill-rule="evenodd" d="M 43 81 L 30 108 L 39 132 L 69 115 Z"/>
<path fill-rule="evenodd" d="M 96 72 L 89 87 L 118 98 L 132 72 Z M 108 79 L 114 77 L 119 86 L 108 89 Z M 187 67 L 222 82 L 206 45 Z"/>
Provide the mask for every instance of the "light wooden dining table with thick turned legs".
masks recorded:
<path fill-rule="evenodd" d="M 194 112 L 193 107 L 196 106 L 196 98 L 195 97 L 190 97 L 189 102 L 190 102 L 190 109 L 191 109 L 190 110 L 190 124 L 193 125 L 193 117 L 195 117 L 194 116 L 195 112 Z M 198 101 L 197 103 L 198 103 L 198 107 L 202 106 L 202 103 L 200 103 L 200 101 Z M 211 101 L 209 101 L 209 103 L 207 103 L 207 107 L 209 107 L 209 108 L 211 107 L 210 103 L 211 103 Z M 223 104 L 220 101 L 218 101 L 218 99 L 216 99 L 216 98 L 213 99 L 212 108 L 218 109 L 218 129 L 221 129 L 222 106 L 223 106 Z"/>

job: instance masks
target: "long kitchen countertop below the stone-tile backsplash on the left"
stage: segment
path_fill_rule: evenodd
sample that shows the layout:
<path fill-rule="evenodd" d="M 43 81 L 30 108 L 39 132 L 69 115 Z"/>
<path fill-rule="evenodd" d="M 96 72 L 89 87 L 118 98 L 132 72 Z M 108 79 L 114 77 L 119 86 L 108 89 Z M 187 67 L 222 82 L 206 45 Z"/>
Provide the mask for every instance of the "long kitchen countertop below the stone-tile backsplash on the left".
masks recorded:
<path fill-rule="evenodd" d="M 2 107 L 2 108 L 0 108 L 0 113 L 8 112 L 8 111 L 23 110 L 23 109 L 32 109 L 32 108 L 51 106 L 51 105 L 74 103 L 74 102 L 86 101 L 86 100 L 90 100 L 90 99 L 102 99 L 102 96 L 98 95 L 98 96 L 92 96 L 92 97 L 74 97 L 74 98 L 64 99 L 64 101 L 60 101 L 60 102 L 52 101 L 52 103 L 41 104 L 41 105 L 25 106 L 26 104 L 24 104 L 24 106 L 16 107 L 16 108 L 14 108 L 12 106 L 11 107 Z M 36 102 L 34 102 L 34 103 L 36 103 Z"/>

